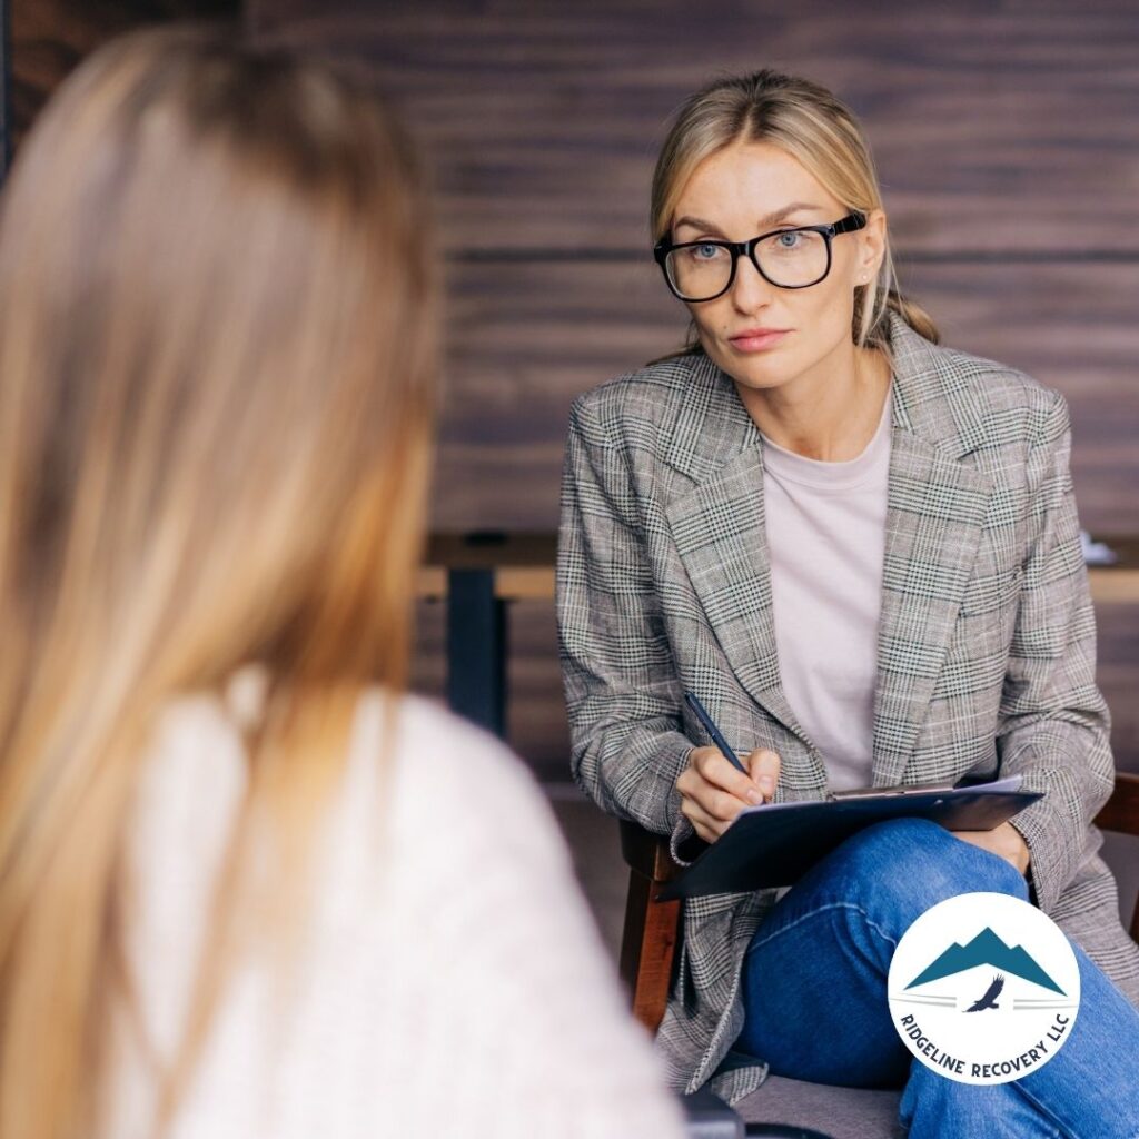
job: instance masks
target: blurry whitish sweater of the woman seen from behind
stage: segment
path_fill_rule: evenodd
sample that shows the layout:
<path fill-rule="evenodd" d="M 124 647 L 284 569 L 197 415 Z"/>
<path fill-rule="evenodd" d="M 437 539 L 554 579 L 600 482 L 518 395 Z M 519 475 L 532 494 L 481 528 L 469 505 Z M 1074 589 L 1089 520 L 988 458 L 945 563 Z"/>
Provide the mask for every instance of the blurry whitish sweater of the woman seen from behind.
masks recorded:
<path fill-rule="evenodd" d="M 244 786 L 233 691 L 170 707 L 136 811 L 128 959 L 164 1057 Z M 415 697 L 384 755 L 384 718 L 378 691 L 360 700 L 298 970 L 282 993 L 264 953 L 238 965 L 169 1136 L 679 1139 L 530 775 Z M 141 1139 L 153 1068 L 115 1024 L 100 1134 Z"/>

